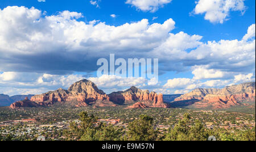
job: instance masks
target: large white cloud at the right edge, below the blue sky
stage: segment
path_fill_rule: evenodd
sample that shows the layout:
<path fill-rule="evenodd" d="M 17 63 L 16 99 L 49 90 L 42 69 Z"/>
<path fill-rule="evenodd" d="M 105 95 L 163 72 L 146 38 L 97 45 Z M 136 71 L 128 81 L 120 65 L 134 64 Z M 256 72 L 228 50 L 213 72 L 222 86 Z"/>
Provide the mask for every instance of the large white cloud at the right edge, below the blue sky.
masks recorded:
<path fill-rule="evenodd" d="M 225 72 L 255 71 L 255 39 L 208 41 L 187 55 L 185 65 L 202 65 L 207 69 L 216 69 L 208 70 L 208 73 L 217 72 L 218 77 L 226 74 Z"/>

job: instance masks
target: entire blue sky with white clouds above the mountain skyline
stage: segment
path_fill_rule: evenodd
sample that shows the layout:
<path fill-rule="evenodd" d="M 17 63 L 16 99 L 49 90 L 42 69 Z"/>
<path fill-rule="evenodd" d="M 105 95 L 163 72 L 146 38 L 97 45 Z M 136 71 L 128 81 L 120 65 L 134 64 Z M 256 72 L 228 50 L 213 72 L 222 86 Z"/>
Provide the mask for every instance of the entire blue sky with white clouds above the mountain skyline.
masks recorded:
<path fill-rule="evenodd" d="M 159 58 L 154 79 L 97 77 L 97 60 Z M 163 94 L 255 81 L 253 0 L 1 0 L 0 94 L 90 79 Z"/>

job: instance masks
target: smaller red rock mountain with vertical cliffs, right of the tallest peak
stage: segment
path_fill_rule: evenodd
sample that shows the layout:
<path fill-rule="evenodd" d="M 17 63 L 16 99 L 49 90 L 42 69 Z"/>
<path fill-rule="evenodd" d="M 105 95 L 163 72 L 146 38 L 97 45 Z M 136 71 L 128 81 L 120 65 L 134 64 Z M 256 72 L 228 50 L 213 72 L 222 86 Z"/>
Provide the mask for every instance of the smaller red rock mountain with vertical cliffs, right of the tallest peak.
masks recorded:
<path fill-rule="evenodd" d="M 167 104 L 163 102 L 163 94 L 141 90 L 137 87 L 131 87 L 126 91 L 113 92 L 109 95 L 110 101 L 116 104 L 134 104 L 134 108 L 151 107 L 151 108 L 167 108 Z M 143 106 L 141 106 L 143 105 Z M 132 106 L 130 108 L 133 108 Z"/>

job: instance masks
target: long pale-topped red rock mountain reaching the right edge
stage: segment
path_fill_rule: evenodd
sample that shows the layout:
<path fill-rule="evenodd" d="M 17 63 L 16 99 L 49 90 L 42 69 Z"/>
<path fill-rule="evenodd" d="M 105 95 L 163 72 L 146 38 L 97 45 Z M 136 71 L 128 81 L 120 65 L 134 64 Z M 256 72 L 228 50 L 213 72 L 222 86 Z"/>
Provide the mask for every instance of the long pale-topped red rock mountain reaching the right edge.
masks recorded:
<path fill-rule="evenodd" d="M 233 105 L 247 105 L 245 102 L 255 103 L 255 82 L 227 86 L 222 89 L 197 88 L 188 94 L 181 95 L 175 101 L 200 100 L 194 104 L 197 108 L 212 107 L 230 108 Z"/>

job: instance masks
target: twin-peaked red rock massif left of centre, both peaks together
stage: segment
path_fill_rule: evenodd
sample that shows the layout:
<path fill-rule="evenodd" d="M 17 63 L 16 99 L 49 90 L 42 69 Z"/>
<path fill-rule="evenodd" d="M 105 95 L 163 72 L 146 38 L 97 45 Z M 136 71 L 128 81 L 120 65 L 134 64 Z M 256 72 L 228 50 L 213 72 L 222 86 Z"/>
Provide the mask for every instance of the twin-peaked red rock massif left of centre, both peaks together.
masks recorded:
<path fill-rule="evenodd" d="M 35 95 L 32 96 L 31 101 L 23 100 L 16 102 L 10 108 L 30 107 L 30 105 L 31 107 L 34 107 L 34 105 L 48 106 L 56 103 L 75 105 L 76 107 L 88 105 L 93 105 L 94 107 L 115 107 L 118 104 L 133 104 L 136 102 L 142 102 L 147 107 L 167 107 L 163 103 L 162 94 L 157 95 L 155 92 L 142 91 L 136 87 L 131 87 L 126 91 L 113 92 L 110 95 L 106 95 L 93 82 L 83 79 L 74 83 L 68 90 L 59 88 L 56 91 Z"/>

